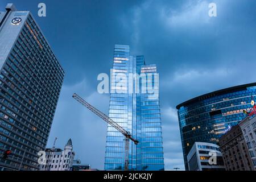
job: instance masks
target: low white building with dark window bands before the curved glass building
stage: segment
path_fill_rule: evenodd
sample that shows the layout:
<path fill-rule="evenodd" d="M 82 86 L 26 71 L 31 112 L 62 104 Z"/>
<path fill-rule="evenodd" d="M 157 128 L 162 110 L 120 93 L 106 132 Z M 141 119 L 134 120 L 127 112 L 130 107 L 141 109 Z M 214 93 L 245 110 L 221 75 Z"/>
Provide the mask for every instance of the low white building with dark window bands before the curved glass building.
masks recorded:
<path fill-rule="evenodd" d="M 219 146 L 195 142 L 187 155 L 189 171 L 225 171 Z"/>

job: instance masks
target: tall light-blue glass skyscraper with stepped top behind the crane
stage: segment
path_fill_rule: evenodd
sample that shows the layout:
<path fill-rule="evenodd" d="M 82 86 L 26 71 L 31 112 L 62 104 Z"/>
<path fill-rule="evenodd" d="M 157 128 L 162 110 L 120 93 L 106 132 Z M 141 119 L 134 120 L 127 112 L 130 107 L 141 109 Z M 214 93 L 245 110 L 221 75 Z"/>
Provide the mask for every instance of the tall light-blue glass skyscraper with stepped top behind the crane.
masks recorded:
<path fill-rule="evenodd" d="M 130 79 L 135 74 L 141 77 Z M 156 65 L 146 65 L 144 56 L 130 56 L 129 46 L 115 45 L 110 80 L 109 117 L 139 140 L 138 145 L 130 142 L 129 170 L 164 170 Z M 154 88 L 154 94 L 144 88 Z M 125 137 L 108 125 L 105 170 L 124 167 Z"/>

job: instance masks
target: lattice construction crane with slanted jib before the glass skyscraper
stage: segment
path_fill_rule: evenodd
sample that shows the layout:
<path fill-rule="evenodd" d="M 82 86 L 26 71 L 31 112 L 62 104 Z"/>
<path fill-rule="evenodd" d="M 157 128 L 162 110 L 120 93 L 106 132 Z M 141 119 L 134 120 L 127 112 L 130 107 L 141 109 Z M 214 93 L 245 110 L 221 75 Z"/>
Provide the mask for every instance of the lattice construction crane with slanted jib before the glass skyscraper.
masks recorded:
<path fill-rule="evenodd" d="M 138 144 L 139 141 L 137 139 L 134 139 L 131 136 L 131 133 L 129 131 L 126 131 L 121 126 L 119 126 L 116 122 L 114 122 L 111 118 L 109 118 L 106 114 L 102 113 L 100 110 L 96 109 L 92 105 L 90 105 L 88 102 L 83 100 L 81 97 L 79 97 L 76 93 L 72 96 L 80 102 L 82 105 L 87 107 L 89 110 L 91 110 L 94 114 L 98 115 L 101 119 L 109 123 L 109 125 L 113 126 L 115 129 L 117 129 L 119 132 L 121 132 L 125 136 L 125 171 L 128 171 L 129 166 L 129 140 L 133 141 L 134 144 Z"/>

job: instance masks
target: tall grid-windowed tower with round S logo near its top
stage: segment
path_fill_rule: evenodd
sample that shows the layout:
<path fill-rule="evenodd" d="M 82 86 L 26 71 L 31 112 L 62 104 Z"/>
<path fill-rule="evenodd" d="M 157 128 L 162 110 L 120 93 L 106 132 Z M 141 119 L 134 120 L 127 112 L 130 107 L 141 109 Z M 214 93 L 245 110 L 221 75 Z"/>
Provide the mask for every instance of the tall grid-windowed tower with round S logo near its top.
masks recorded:
<path fill-rule="evenodd" d="M 64 71 L 29 11 L 0 12 L 0 171 L 36 170 L 63 83 Z"/>

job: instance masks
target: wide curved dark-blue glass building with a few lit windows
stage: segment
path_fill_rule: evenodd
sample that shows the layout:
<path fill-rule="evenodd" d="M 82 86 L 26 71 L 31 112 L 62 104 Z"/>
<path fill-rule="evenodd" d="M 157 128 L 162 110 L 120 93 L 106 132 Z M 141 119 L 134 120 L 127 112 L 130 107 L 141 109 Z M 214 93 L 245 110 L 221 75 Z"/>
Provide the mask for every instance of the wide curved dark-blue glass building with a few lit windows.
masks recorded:
<path fill-rule="evenodd" d="M 256 82 L 217 90 L 176 106 L 186 170 L 187 155 L 193 144 L 218 144 L 225 130 L 246 117 L 243 110 L 251 109 L 251 96 L 256 96 Z"/>

